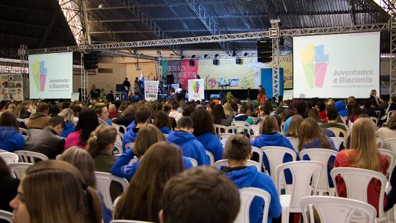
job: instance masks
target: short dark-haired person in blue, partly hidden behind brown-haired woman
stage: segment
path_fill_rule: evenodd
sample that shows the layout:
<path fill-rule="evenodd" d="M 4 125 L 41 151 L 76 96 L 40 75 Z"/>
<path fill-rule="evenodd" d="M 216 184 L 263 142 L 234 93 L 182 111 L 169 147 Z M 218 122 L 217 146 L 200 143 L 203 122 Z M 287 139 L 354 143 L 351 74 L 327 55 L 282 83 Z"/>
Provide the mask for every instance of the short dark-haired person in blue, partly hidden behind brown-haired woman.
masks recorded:
<path fill-rule="evenodd" d="M 124 134 L 124 138 L 122 138 L 122 149 L 125 151 L 125 145 L 129 142 L 135 142 L 137 133 L 139 132 L 139 129 L 146 125 L 147 123 L 150 122 L 151 116 L 153 115 L 153 111 L 151 111 L 151 108 L 147 107 L 146 105 L 142 105 L 139 108 L 137 108 L 135 112 L 135 122 L 136 126 L 133 127 L 131 130 L 126 130 L 126 133 Z M 135 123 L 133 122 L 133 123 Z M 131 124 L 132 125 L 132 124 Z"/>

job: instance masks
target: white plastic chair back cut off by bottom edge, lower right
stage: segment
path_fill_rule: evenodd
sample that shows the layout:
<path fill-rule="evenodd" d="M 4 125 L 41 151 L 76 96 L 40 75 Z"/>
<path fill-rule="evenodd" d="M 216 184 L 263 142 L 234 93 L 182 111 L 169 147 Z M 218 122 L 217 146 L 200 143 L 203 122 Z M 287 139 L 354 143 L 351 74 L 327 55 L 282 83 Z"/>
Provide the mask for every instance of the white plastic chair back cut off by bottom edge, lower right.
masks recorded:
<path fill-rule="evenodd" d="M 355 211 L 366 213 L 366 221 L 373 223 L 377 211 L 370 204 L 348 198 L 336 198 L 331 196 L 307 196 L 300 200 L 300 207 L 303 211 L 305 223 L 314 222 L 314 209 L 320 218 L 321 223 L 349 223 Z"/>

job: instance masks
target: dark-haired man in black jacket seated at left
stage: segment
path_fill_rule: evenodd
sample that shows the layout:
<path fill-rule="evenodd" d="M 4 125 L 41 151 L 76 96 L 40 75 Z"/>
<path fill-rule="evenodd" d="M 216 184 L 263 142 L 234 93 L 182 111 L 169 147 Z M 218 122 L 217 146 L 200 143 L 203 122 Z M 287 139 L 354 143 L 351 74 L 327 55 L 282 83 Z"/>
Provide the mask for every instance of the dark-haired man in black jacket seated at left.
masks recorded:
<path fill-rule="evenodd" d="M 65 129 L 65 120 L 53 116 L 48 121 L 47 127 L 26 140 L 25 150 L 42 153 L 49 159 L 55 159 L 65 150 L 65 138 L 60 137 L 63 129 Z"/>

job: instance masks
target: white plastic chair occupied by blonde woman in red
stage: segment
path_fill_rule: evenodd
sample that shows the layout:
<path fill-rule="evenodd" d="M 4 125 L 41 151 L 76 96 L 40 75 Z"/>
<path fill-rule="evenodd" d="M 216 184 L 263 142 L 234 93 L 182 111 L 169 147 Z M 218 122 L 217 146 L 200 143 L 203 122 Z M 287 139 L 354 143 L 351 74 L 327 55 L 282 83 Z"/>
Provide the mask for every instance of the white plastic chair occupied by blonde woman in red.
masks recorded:
<path fill-rule="evenodd" d="M 375 221 L 376 222 L 383 222 L 385 220 L 388 221 L 388 215 L 384 213 L 384 193 L 385 193 L 385 186 L 387 181 L 386 176 L 384 176 L 384 174 L 378 173 L 377 171 L 371 171 L 368 169 L 359 169 L 353 167 L 338 167 L 332 169 L 330 172 L 333 182 L 336 182 L 336 176 L 338 176 L 339 174 L 341 175 L 342 179 L 345 182 L 348 198 L 354 200 L 360 200 L 366 203 L 368 197 L 367 187 L 369 187 L 371 180 L 373 178 L 380 180 L 381 191 L 380 191 L 380 201 L 378 204 L 379 213 L 377 213 L 379 217 L 377 217 Z M 362 219 L 362 217 L 358 217 L 358 215 L 355 215 L 353 218 L 356 218 L 357 220 Z"/>

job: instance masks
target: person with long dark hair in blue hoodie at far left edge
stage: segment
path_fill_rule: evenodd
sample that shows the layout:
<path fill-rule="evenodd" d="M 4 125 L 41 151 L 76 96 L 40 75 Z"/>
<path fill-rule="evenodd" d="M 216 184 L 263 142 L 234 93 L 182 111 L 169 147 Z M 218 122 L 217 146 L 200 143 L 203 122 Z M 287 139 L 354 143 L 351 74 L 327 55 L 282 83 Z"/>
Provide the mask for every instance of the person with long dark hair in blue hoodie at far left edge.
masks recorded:
<path fill-rule="evenodd" d="M 13 153 L 23 150 L 25 138 L 19 134 L 17 117 L 10 111 L 0 116 L 0 149 Z"/>

